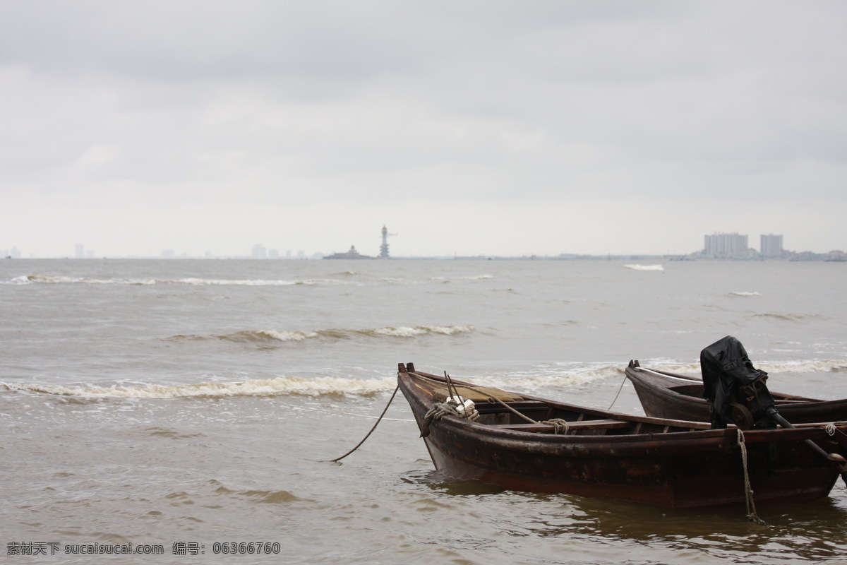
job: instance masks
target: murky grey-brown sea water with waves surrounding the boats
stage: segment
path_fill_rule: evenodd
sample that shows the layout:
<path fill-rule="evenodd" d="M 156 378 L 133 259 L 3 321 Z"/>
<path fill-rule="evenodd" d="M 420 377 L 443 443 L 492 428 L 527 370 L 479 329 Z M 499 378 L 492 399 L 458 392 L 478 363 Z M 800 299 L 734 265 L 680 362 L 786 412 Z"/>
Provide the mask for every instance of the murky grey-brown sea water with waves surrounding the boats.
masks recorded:
<path fill-rule="evenodd" d="M 399 394 L 329 463 L 397 363 L 643 413 L 630 359 L 699 374 L 734 335 L 773 391 L 847 396 L 845 288 L 822 262 L 5 260 L 2 561 L 847 562 L 840 480 L 765 524 L 454 481 Z"/>

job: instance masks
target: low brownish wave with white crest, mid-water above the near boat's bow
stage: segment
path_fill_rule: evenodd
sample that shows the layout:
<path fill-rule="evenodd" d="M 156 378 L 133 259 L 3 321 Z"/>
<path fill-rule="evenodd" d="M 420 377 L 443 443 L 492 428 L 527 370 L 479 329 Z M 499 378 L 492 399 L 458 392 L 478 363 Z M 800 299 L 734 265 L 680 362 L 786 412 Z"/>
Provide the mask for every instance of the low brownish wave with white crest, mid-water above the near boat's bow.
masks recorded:
<path fill-rule="evenodd" d="M 169 341 L 224 340 L 236 343 L 268 344 L 274 342 L 307 341 L 314 339 L 349 340 L 357 337 L 418 337 L 421 335 L 457 335 L 473 332 L 472 325 L 420 325 L 414 327 L 385 327 L 364 330 L 244 330 L 226 335 L 174 335 Z"/>

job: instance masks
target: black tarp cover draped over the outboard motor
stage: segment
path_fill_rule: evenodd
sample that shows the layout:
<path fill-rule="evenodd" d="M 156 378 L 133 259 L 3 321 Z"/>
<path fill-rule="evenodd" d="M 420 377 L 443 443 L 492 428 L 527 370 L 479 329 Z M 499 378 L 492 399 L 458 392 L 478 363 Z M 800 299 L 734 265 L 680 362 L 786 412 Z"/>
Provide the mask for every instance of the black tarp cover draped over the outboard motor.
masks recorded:
<path fill-rule="evenodd" d="M 703 398 L 711 402 L 711 427 L 732 423 L 732 397 L 739 386 L 750 385 L 764 371 L 753 367 L 741 342 L 732 335 L 715 341 L 700 352 Z"/>

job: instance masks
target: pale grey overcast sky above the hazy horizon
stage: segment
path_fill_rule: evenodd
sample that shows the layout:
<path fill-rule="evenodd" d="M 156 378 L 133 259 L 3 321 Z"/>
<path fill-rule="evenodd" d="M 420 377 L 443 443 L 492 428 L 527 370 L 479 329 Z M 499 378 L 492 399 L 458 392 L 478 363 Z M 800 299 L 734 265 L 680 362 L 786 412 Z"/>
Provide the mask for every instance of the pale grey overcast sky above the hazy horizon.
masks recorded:
<path fill-rule="evenodd" d="M 0 1 L 0 250 L 847 251 L 847 3 Z"/>

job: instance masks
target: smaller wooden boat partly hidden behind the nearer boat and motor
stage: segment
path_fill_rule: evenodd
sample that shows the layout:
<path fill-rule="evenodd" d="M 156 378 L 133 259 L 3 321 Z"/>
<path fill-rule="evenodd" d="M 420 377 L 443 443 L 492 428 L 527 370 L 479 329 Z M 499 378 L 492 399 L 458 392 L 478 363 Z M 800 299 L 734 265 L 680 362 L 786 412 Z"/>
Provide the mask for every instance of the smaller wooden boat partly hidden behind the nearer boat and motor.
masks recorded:
<path fill-rule="evenodd" d="M 684 374 L 641 367 L 630 361 L 626 375 L 635 387 L 648 416 L 709 422 L 711 414 L 703 398 L 703 381 Z M 771 392 L 774 406 L 791 424 L 828 423 L 847 420 L 847 398 L 823 401 Z"/>

